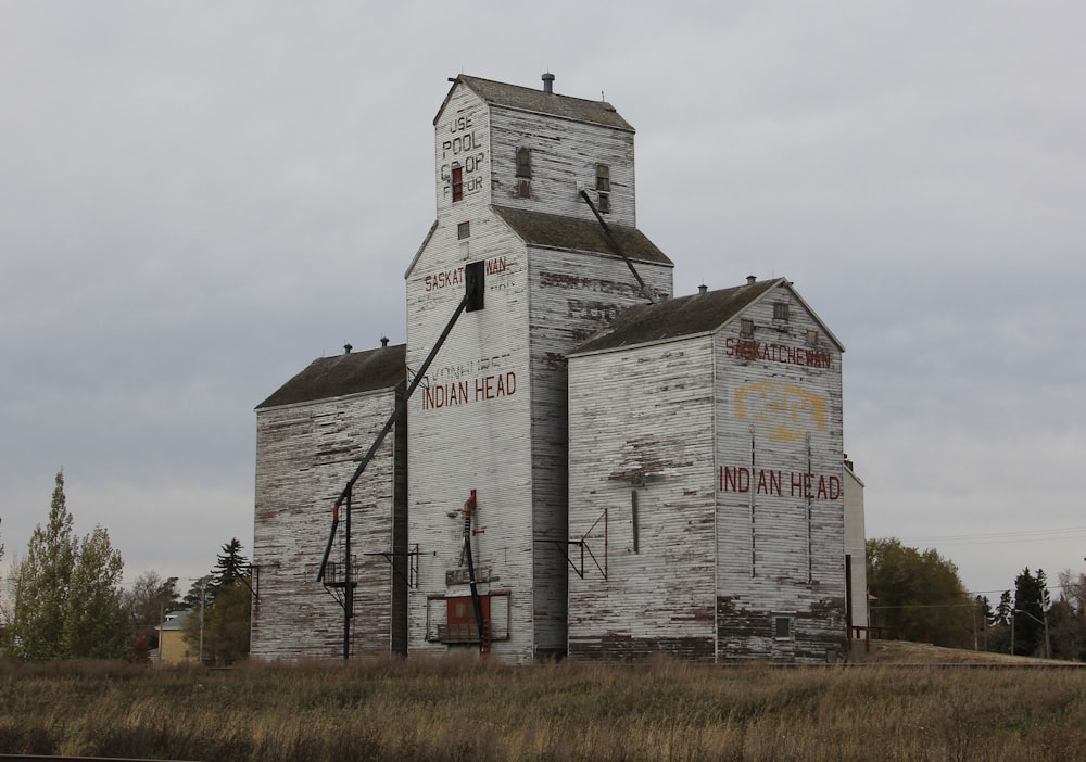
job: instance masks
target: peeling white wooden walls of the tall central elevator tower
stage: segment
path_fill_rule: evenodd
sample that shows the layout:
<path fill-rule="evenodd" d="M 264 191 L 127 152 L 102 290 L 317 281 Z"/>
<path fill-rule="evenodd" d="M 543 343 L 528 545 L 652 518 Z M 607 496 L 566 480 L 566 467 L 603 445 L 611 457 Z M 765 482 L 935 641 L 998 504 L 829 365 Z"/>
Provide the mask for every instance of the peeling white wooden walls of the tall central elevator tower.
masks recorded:
<path fill-rule="evenodd" d="M 525 661 L 566 645 L 566 561 L 552 543 L 536 542 L 566 539 L 565 353 L 644 297 L 615 254 L 528 246 L 492 204 L 594 219 L 578 183 L 594 187 L 596 164 L 606 163 L 611 214 L 632 225 L 632 132 L 503 109 L 463 86 L 434 125 L 438 221 L 407 274 L 409 367 L 421 364 L 463 296 L 466 263 L 485 263 L 487 287 L 485 308 L 460 318 L 408 408 L 409 542 L 420 554 L 411 651 L 449 648 L 434 634 L 444 625 L 441 596 L 468 594 L 462 508 L 475 490 L 472 556 L 487 571 L 477 575 L 487 579 L 480 590 L 508 594 L 508 638 L 492 650 Z M 513 183 L 516 150 L 526 145 L 531 193 L 521 199 Z M 453 200 L 457 165 L 460 201 Z M 670 263 L 645 267 L 646 279 L 670 291 Z"/>

